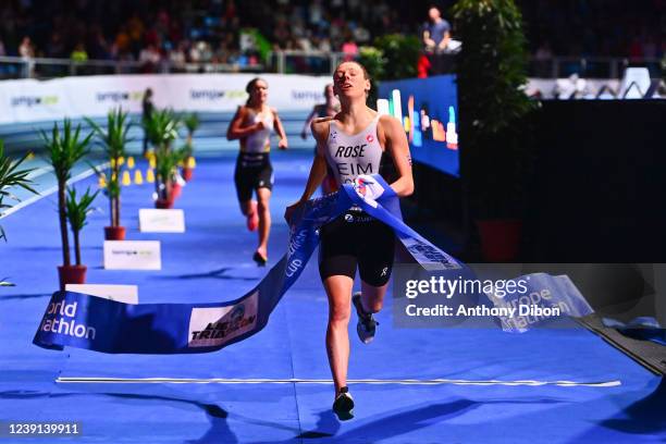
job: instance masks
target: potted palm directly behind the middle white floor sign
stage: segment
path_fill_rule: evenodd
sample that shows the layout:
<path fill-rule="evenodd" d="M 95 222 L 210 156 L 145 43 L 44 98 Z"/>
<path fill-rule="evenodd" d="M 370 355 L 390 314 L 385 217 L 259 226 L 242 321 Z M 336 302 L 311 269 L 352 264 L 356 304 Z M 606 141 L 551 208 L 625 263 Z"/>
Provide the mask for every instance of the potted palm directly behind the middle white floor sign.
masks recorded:
<path fill-rule="evenodd" d="M 127 132 L 132 127 L 132 123 L 127 120 L 127 113 L 121 108 L 110 111 L 107 114 L 107 128 L 103 130 L 90 119 L 86 119 L 88 124 L 95 131 L 97 138 L 104 149 L 104 153 L 109 159 L 109 169 L 104 173 L 97 168 L 95 172 L 101 177 L 103 176 L 107 183 L 104 194 L 109 198 L 109 208 L 111 217 L 111 225 L 104 226 L 104 238 L 107 240 L 124 240 L 125 227 L 120 224 L 121 214 L 121 159 L 126 157 L 125 147 L 131 139 L 127 137 Z"/>

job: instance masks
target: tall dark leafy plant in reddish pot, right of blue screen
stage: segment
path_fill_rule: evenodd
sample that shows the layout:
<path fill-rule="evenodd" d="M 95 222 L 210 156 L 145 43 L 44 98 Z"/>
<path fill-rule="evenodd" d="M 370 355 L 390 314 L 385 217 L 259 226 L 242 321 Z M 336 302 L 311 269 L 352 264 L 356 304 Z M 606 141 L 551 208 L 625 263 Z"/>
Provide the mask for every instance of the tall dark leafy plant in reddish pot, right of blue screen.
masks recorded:
<path fill-rule="evenodd" d="M 528 144 L 534 108 L 525 94 L 527 52 L 514 0 L 459 0 L 454 5 L 462 51 L 457 60 L 460 170 L 486 260 L 516 258 Z"/>

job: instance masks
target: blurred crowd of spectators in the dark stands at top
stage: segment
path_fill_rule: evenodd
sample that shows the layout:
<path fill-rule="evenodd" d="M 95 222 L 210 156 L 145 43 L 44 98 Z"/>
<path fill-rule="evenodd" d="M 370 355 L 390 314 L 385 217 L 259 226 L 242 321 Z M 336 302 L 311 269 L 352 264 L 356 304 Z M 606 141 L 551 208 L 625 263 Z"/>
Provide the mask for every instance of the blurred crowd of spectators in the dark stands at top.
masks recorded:
<path fill-rule="evenodd" d="M 446 18 L 455 1 L 440 1 Z M 666 0 L 517 0 L 531 53 L 661 58 Z M 0 55 L 78 61 L 261 63 L 262 51 L 358 52 L 379 35 L 420 35 L 424 1 L 3 0 Z M 451 21 L 451 20 L 449 20 Z M 455 22 L 452 35 L 455 37 Z M 257 38 L 244 38 L 244 28 Z M 260 45 L 262 44 L 262 45 Z"/>

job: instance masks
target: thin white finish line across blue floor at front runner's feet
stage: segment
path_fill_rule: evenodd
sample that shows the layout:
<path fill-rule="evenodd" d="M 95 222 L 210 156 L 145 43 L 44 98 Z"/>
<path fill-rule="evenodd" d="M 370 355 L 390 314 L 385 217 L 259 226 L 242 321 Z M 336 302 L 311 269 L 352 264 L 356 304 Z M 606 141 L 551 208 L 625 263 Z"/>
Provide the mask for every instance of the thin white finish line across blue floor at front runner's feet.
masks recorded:
<path fill-rule="evenodd" d="M 226 379 L 226 378 L 76 378 L 61 377 L 55 379 L 62 384 L 333 384 L 332 380 L 316 379 Z M 577 381 L 502 381 L 502 380 L 454 380 L 454 379 L 359 379 L 347 380 L 349 384 L 404 384 L 404 385 L 556 385 L 560 387 L 615 387 L 621 385 L 621 381 L 601 382 L 577 382 Z"/>

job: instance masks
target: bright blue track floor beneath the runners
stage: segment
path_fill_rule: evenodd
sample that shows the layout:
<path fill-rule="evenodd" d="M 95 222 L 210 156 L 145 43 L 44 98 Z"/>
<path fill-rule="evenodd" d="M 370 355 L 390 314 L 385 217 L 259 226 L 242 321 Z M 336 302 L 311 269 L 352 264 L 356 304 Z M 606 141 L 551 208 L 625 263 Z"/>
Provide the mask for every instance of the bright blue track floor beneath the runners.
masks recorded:
<path fill-rule="evenodd" d="M 310 156 L 305 151 L 273 156 L 269 266 L 285 251 L 282 213 L 303 190 Z M 198 163 L 194 181 L 176 203 L 186 212 L 185 234 L 139 233 L 137 213 L 141 207 L 150 208 L 151 185 L 123 190 L 127 238 L 161 240 L 161 271 L 101 268 L 108 214 L 107 201 L 97 201 L 101 211 L 91 215 L 83 233 L 89 283 L 137 284 L 141 303 L 176 303 L 229 300 L 259 282 L 267 269 L 251 261 L 256 234 L 245 229 L 235 200 L 234 157 L 220 155 Z M 77 186 L 95 182 L 89 177 Z M 666 439 L 666 416 L 658 414 L 666 411 L 662 380 L 587 330 L 514 335 L 480 329 L 394 329 L 391 294 L 372 344 L 360 344 L 350 325 L 350 380 L 620 381 L 620 385 L 350 383 L 356 417 L 338 422 L 330 411 L 330 383 L 307 382 L 330 380 L 324 349 L 328 306 L 314 261 L 262 332 L 219 353 L 137 356 L 45 350 L 32 345 L 32 338 L 58 282 L 61 252 L 54 196 L 1 222 L 9 243 L 0 246 L 0 274 L 17 285 L 0 289 L 4 420 L 81 421 L 83 436 L 73 440 L 79 443 L 633 443 Z M 201 381 L 66 382 L 102 377 Z M 206 383 L 210 379 L 217 382 Z M 245 381 L 230 383 L 232 379 Z M 273 381 L 248 383 L 250 379 Z M 296 382 L 279 383 L 284 380 Z"/>

